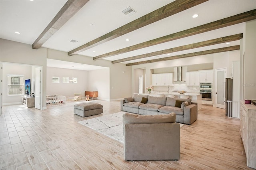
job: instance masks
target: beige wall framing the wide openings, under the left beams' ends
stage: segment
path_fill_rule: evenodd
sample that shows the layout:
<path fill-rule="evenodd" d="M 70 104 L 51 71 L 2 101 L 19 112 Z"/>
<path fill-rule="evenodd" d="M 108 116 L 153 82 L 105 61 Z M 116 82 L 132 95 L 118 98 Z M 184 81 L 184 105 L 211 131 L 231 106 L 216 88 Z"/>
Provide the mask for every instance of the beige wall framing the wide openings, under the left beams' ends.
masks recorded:
<path fill-rule="evenodd" d="M 57 59 L 76 63 L 98 65 L 109 68 L 109 98 L 108 100 L 118 100 L 132 94 L 132 70 L 131 66 L 122 63 L 112 64 L 111 61 L 104 59 L 93 60 L 92 57 L 82 55 L 69 56 L 67 52 L 54 49 L 32 49 L 31 45 L 18 43 L 10 40 L 0 39 L 0 61 L 9 63 L 24 63 L 34 66 L 42 66 L 42 86 L 43 86 L 43 108 L 46 109 L 46 59 Z M 125 73 L 122 73 L 125 71 Z M 105 98 L 105 97 L 104 97 Z"/>

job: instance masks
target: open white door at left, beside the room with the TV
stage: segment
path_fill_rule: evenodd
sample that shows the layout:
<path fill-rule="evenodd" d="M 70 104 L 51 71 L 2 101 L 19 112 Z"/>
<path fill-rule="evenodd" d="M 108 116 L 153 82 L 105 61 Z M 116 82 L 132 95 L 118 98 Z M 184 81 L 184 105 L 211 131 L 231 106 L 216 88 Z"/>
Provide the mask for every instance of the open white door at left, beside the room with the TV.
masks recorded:
<path fill-rule="evenodd" d="M 41 109 L 41 70 L 36 67 L 36 83 L 35 83 L 35 108 Z"/>

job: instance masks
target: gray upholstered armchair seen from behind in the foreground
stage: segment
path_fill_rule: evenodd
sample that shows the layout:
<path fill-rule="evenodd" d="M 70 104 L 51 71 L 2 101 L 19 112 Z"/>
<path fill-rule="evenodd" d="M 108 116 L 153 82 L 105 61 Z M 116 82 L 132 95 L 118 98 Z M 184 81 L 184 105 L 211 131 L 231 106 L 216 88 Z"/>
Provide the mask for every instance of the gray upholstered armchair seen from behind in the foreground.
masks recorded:
<path fill-rule="evenodd" d="M 125 113 L 125 160 L 180 159 L 180 124 L 176 114 L 135 115 Z"/>

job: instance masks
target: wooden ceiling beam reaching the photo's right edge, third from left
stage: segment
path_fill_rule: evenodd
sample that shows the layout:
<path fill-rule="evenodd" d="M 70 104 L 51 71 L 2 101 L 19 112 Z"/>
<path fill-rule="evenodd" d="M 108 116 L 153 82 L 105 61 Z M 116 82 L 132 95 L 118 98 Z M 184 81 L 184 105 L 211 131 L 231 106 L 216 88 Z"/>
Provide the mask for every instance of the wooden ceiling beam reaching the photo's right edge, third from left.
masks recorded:
<path fill-rule="evenodd" d="M 219 28 L 224 28 L 224 27 L 227 27 L 227 26 L 231 26 L 231 25 L 234 25 L 234 24 L 239 24 L 239 23 L 242 23 L 242 22 L 247 22 L 247 21 L 255 20 L 255 19 L 256 19 L 256 9 L 251 10 L 251 11 L 247 11 L 247 12 L 244 12 L 244 13 L 241 13 L 241 14 L 237 14 L 237 15 L 234 15 L 234 16 L 230 16 L 228 18 L 224 18 L 224 19 L 221 19 L 221 20 L 217 20 L 217 21 L 214 21 L 214 22 L 210 22 L 208 24 L 204 24 L 204 25 L 201 25 L 201 26 L 190 28 L 188 30 L 183 30 L 183 31 L 180 31 L 180 32 L 176 32 L 174 34 L 170 34 L 170 35 L 167 35 L 167 36 L 156 38 L 154 40 L 150 40 L 150 41 L 147 41 L 147 42 L 132 45 L 130 47 L 126 47 L 126 48 L 118 49 L 116 51 L 112 51 L 112 52 L 109 52 L 109 53 L 98 55 L 96 57 L 93 57 L 93 59 L 97 60 L 97 59 L 110 57 L 110 56 L 113 56 L 113 55 L 127 53 L 127 52 L 134 51 L 134 50 L 137 50 L 137 49 L 150 47 L 152 45 L 157 45 L 157 44 L 169 42 L 169 41 L 172 41 L 172 40 L 178 40 L 180 38 L 193 36 L 193 35 L 200 34 L 200 33 L 203 33 L 203 32 L 208 32 L 208 31 L 219 29 Z"/>

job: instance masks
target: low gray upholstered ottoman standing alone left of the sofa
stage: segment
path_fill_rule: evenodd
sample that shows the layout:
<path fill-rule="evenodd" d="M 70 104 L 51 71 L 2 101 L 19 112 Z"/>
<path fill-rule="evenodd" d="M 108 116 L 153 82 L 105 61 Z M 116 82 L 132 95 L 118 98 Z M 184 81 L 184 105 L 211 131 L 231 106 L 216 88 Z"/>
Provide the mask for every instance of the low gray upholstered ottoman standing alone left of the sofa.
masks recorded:
<path fill-rule="evenodd" d="M 74 105 L 74 114 L 87 117 L 92 115 L 98 115 L 100 113 L 103 113 L 102 105 L 98 103 L 80 103 Z"/>

